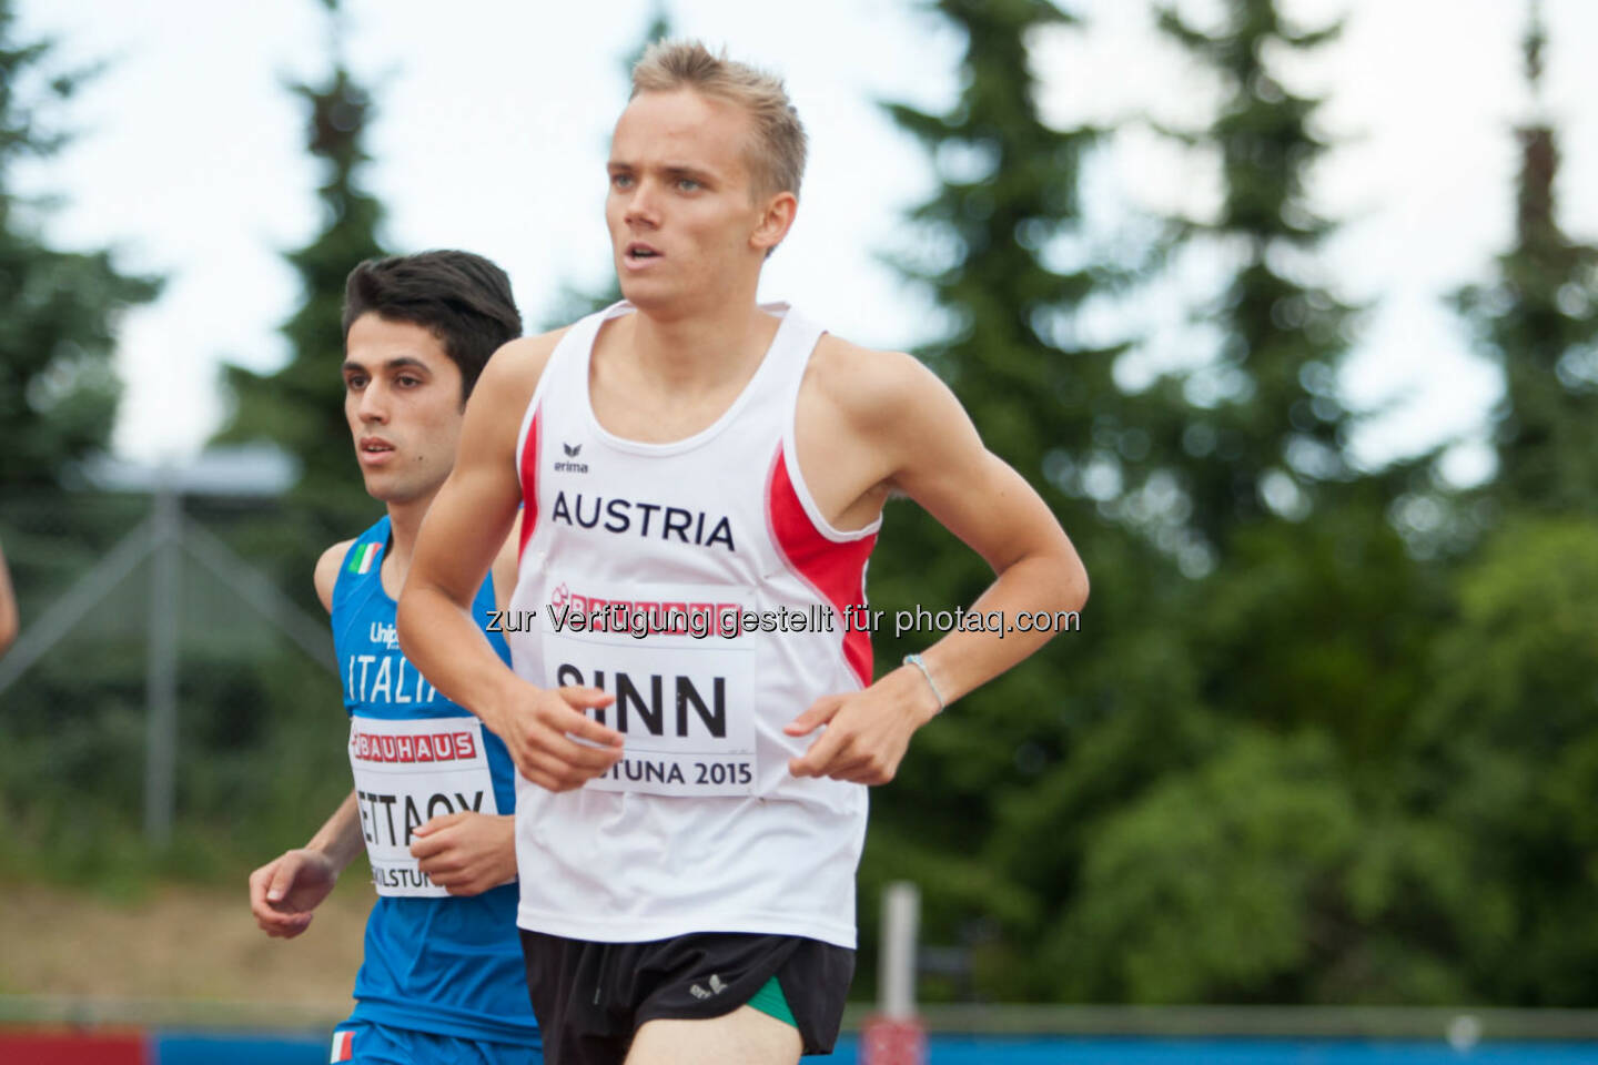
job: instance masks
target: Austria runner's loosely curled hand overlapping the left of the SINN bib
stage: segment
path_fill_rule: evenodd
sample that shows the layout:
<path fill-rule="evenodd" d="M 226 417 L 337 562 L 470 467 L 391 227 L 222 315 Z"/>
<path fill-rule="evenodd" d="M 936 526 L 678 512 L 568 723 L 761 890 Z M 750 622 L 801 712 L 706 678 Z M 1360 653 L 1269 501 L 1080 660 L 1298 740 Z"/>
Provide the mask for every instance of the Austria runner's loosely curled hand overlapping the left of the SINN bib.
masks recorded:
<path fill-rule="evenodd" d="M 569 792 L 622 760 L 622 733 L 583 712 L 612 703 L 615 696 L 599 688 L 547 690 L 518 680 L 502 707 L 483 720 L 505 741 L 523 776 L 551 792 Z"/>

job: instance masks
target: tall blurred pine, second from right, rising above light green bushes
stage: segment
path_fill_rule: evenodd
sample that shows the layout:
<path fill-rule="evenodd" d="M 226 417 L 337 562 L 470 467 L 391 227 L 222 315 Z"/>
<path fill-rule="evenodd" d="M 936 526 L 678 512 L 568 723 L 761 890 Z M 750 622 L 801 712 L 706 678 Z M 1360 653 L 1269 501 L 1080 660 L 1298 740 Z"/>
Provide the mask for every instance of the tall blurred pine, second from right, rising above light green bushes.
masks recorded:
<path fill-rule="evenodd" d="M 1387 516 L 1425 485 L 1432 457 L 1377 473 L 1347 457 L 1357 417 L 1338 377 L 1357 311 L 1315 281 L 1334 225 L 1309 200 L 1328 150 L 1312 129 L 1323 101 L 1285 88 L 1272 65 L 1341 27 L 1299 32 L 1277 0 L 1226 0 L 1210 32 L 1171 8 L 1159 22 L 1222 88 L 1216 120 L 1191 137 L 1219 156 L 1219 211 L 1184 232 L 1240 260 L 1205 310 L 1219 356 L 1184 375 L 1187 406 L 1154 430 L 1219 564 L 1195 589 L 1203 690 L 1240 719 L 1325 728 L 1344 752 L 1382 765 L 1424 683 L 1417 663 L 1438 610 Z"/>

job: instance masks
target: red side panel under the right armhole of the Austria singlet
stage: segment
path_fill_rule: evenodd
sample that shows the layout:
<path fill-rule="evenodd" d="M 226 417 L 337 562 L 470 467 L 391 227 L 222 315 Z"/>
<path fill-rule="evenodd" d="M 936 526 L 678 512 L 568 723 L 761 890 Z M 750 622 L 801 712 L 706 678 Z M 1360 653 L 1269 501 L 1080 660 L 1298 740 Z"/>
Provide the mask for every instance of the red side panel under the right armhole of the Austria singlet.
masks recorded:
<path fill-rule="evenodd" d="M 821 599 L 837 612 L 836 624 L 844 624 L 844 608 L 866 604 L 866 559 L 877 543 L 877 535 L 860 540 L 828 540 L 810 516 L 805 514 L 793 477 L 788 476 L 788 460 L 781 444 L 772 460 L 772 474 L 765 484 L 765 514 L 772 525 L 772 540 L 788 560 L 788 565 Z M 858 616 L 858 615 L 857 615 Z M 871 685 L 871 634 L 865 628 L 844 632 L 844 659 L 855 671 L 861 687 Z"/>

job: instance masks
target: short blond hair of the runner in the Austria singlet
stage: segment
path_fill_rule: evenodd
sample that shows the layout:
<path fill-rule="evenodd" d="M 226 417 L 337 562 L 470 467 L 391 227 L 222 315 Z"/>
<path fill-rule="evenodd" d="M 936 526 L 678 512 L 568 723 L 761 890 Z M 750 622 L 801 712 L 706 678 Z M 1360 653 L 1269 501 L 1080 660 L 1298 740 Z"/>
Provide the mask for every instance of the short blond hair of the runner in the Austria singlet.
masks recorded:
<path fill-rule="evenodd" d="M 725 51 L 716 56 L 697 40 L 655 42 L 633 67 L 633 97 L 674 89 L 695 89 L 748 112 L 754 120 L 754 144 L 748 152 L 754 195 L 799 195 L 805 134 L 781 78 L 733 62 Z"/>

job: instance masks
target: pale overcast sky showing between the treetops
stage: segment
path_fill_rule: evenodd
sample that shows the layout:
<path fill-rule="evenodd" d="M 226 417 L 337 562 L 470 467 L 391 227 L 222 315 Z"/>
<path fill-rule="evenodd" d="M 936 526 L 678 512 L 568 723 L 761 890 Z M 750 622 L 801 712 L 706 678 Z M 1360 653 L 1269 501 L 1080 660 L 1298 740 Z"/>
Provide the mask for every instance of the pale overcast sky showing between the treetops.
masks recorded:
<path fill-rule="evenodd" d="M 1071 6 L 1071 5 L 1067 5 Z M 1285 0 L 1306 26 L 1344 14 L 1344 37 L 1294 59 L 1290 86 L 1330 96 L 1325 133 L 1341 147 L 1315 174 L 1317 206 L 1346 222 L 1323 255 L 1325 279 L 1369 303 L 1344 386 L 1390 409 L 1358 441 L 1369 460 L 1480 433 L 1497 375 L 1470 354 L 1443 305 L 1483 279 L 1512 230 L 1512 126 L 1531 113 L 1521 78 L 1520 0 Z M 455 0 L 348 3 L 347 51 L 376 91 L 369 185 L 388 208 L 396 251 L 455 246 L 503 265 L 529 326 L 559 286 L 598 287 L 609 271 L 604 153 L 625 102 L 620 57 L 649 0 L 588 5 Z M 1197 21 L 1213 0 L 1183 5 Z M 1034 48 L 1050 121 L 1152 115 L 1197 128 L 1213 88 L 1159 38 L 1141 0 L 1077 3 L 1082 30 Z M 932 339 L 938 316 L 879 254 L 903 243 L 903 211 L 935 171 L 874 101 L 941 109 L 957 93 L 962 42 L 900 0 L 797 5 L 671 0 L 674 29 L 783 73 L 812 137 L 794 233 L 765 270 L 762 297 L 802 303 L 841 335 L 903 348 Z M 1598 238 L 1598 3 L 1548 0 L 1544 102 L 1561 131 L 1561 219 Z M 224 415 L 219 362 L 270 369 L 286 358 L 276 326 L 299 297 L 280 252 L 320 227 L 304 115 L 284 78 L 316 78 L 329 59 L 320 3 L 214 0 L 21 0 L 22 38 L 51 34 L 74 61 L 110 65 L 69 112 L 81 131 L 61 156 L 19 174 L 64 198 L 48 235 L 72 247 L 115 246 L 131 270 L 168 276 L 160 300 L 123 323 L 126 398 L 115 431 L 129 458 L 197 452 Z M 1582 45 L 1587 45 L 1584 48 Z M 1093 240 L 1135 246 L 1151 212 L 1203 216 L 1213 169 L 1144 125 L 1127 123 L 1087 177 Z M 352 263 L 353 265 L 353 263 Z M 1181 323 L 1211 291 L 1202 262 L 1141 299 L 1083 323 L 1106 339 L 1151 340 L 1123 366 L 1202 358 Z M 329 366 L 329 374 L 337 367 Z M 1485 469 L 1480 449 L 1454 463 Z"/>

